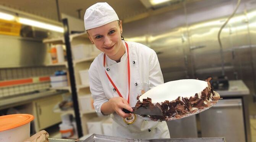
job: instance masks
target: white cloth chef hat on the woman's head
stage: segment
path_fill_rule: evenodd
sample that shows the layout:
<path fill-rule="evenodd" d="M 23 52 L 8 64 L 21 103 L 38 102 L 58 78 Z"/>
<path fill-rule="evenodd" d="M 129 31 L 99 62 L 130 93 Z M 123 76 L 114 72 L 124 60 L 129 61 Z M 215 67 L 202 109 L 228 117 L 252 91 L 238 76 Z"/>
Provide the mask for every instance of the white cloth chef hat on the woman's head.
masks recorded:
<path fill-rule="evenodd" d="M 106 2 L 96 3 L 86 9 L 84 14 L 85 30 L 100 27 L 119 20 L 115 10 Z"/>

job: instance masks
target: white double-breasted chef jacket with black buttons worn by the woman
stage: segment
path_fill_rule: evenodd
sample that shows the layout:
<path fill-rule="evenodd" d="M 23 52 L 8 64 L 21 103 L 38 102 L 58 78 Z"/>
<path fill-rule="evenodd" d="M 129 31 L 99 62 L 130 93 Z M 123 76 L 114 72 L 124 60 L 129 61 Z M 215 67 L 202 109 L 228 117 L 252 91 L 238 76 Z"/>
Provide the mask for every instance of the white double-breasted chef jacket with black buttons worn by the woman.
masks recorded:
<path fill-rule="evenodd" d="M 156 52 L 149 47 L 134 42 L 125 41 L 128 44 L 130 57 L 130 106 L 137 103 L 136 97 L 149 89 L 163 84 L 164 79 L 160 69 Z M 123 41 L 123 44 L 125 45 Z M 89 68 L 89 84 L 94 108 L 101 113 L 102 104 L 110 98 L 118 97 L 117 91 L 107 78 L 105 71 L 118 88 L 119 92 L 128 99 L 128 71 L 127 49 L 119 63 L 106 56 L 106 65 L 103 65 L 104 53 L 99 54 Z M 145 121 L 136 115 L 136 121 L 127 125 L 118 114 L 111 114 L 113 121 L 113 136 L 133 139 L 159 139 L 170 138 L 166 122 Z"/>

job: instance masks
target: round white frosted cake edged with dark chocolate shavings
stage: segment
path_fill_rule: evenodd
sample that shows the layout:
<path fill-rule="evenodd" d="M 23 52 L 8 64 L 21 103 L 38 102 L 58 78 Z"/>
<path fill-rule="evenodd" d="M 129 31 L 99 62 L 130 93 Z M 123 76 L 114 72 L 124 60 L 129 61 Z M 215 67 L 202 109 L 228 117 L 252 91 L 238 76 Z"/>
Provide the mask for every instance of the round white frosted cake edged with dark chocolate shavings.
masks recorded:
<path fill-rule="evenodd" d="M 217 103 L 220 96 L 210 81 L 182 79 L 166 82 L 139 96 L 136 108 L 159 106 L 163 115 L 150 115 L 151 120 L 172 120 L 199 113 Z"/>

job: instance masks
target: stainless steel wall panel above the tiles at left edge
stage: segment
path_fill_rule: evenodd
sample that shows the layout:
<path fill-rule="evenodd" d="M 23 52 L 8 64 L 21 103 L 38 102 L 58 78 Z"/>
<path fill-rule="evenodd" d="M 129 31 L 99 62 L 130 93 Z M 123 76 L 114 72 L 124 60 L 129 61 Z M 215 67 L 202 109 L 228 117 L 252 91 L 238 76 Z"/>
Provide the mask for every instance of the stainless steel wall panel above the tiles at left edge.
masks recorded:
<path fill-rule="evenodd" d="M 0 68 L 42 66 L 48 61 L 41 40 L 0 35 L 0 43 Z"/>

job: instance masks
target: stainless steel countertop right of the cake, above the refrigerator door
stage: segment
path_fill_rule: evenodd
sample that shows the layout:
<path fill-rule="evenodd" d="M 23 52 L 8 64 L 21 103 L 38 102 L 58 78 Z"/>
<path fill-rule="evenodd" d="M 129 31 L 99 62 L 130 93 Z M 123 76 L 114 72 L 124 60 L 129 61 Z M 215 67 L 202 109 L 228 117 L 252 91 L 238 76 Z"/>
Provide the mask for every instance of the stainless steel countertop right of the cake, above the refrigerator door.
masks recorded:
<path fill-rule="evenodd" d="M 242 80 L 229 80 L 228 90 L 215 90 L 220 94 L 220 97 L 233 97 L 249 95 L 250 90 Z"/>

